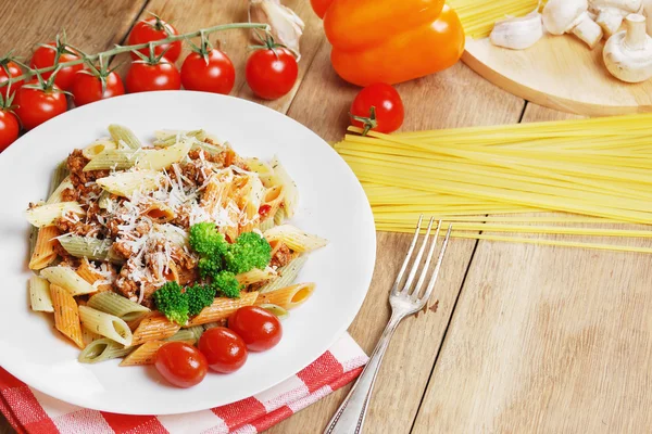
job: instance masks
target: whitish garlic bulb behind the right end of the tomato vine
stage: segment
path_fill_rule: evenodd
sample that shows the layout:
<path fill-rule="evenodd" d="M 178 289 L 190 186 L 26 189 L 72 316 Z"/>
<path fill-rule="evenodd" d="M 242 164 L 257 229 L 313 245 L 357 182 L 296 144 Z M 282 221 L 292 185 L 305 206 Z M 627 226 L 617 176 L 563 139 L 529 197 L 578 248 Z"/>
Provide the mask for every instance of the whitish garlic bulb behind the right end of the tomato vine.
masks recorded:
<path fill-rule="evenodd" d="M 249 22 L 268 24 L 276 42 L 291 50 L 299 61 L 299 40 L 305 24 L 294 11 L 280 4 L 280 0 L 249 0 Z"/>

